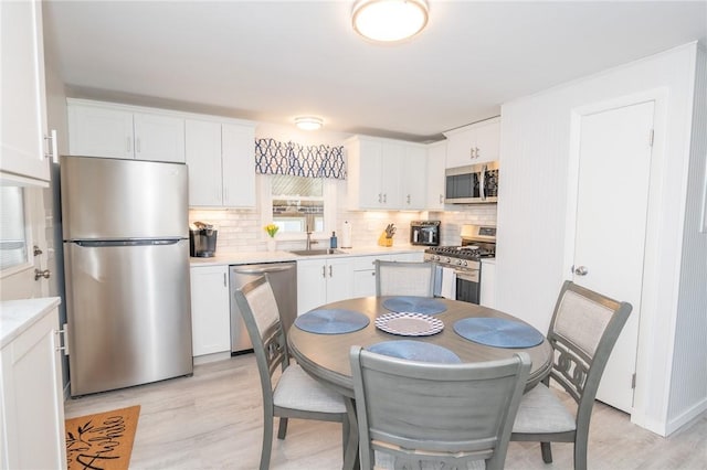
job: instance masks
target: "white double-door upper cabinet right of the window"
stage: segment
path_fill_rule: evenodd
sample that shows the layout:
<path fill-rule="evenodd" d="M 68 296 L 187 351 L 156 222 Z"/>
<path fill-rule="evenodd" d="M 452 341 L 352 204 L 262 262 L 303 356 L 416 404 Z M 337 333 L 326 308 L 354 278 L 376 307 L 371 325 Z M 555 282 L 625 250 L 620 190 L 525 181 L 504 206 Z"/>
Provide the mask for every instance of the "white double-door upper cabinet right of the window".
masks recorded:
<path fill-rule="evenodd" d="M 425 150 L 399 140 L 356 136 L 346 141 L 351 210 L 422 210 Z"/>

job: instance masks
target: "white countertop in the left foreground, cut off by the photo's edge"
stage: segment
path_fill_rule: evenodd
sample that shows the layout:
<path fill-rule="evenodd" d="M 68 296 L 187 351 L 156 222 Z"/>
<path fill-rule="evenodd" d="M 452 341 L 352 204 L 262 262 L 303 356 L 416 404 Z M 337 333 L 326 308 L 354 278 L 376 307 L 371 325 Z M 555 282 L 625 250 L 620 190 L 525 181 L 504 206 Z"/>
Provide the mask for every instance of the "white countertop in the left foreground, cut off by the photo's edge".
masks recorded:
<path fill-rule="evenodd" d="M 4 300 L 0 302 L 0 348 L 4 348 L 49 311 L 56 308 L 59 297 Z M 59 327 L 59 324 L 56 325 Z"/>

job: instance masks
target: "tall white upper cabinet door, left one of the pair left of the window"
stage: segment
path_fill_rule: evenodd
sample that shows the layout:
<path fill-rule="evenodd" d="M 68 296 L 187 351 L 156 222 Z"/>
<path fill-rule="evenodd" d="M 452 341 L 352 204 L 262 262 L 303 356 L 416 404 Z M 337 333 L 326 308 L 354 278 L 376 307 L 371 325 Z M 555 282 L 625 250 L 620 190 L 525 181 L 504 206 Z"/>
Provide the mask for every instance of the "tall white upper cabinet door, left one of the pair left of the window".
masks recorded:
<path fill-rule="evenodd" d="M 221 206 L 221 125 L 201 120 L 186 122 L 189 205 Z"/>

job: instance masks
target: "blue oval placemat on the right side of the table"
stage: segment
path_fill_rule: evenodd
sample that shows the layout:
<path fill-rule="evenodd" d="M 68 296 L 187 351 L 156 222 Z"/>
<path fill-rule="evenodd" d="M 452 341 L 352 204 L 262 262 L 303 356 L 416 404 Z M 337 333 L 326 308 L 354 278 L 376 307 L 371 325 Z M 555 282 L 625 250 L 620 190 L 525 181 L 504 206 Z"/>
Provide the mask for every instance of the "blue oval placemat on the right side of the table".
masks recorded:
<path fill-rule="evenodd" d="M 469 341 L 496 348 L 532 348 L 545 337 L 529 324 L 503 318 L 465 318 L 454 331 Z"/>

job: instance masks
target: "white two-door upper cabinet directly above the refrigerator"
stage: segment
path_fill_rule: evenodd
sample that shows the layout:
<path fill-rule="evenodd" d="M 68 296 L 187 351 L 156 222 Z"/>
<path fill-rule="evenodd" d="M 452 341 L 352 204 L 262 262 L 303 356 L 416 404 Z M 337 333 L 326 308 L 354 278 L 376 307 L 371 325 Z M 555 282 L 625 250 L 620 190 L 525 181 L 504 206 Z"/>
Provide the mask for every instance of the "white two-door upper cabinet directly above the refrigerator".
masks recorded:
<path fill-rule="evenodd" d="M 120 105 L 67 99 L 70 153 L 184 162 L 184 119 Z"/>

